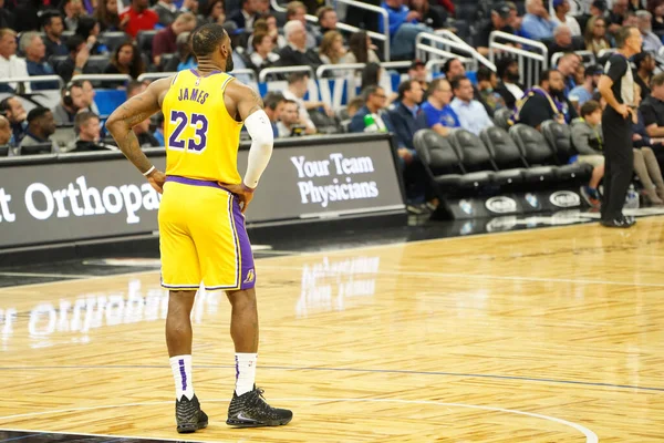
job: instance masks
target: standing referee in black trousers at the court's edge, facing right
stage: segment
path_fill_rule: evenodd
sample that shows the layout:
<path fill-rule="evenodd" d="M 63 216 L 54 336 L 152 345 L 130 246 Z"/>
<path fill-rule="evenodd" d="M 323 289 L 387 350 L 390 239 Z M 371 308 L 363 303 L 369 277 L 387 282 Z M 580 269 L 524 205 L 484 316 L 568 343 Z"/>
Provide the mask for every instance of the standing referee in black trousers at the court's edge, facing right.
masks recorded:
<path fill-rule="evenodd" d="M 604 133 L 604 198 L 602 226 L 632 227 L 635 222 L 622 214 L 633 174 L 632 122 L 636 123 L 634 79 L 630 58 L 641 52 L 643 39 L 635 27 L 623 27 L 615 33 L 618 52 L 612 54 L 600 78 L 598 89 L 606 101 L 602 114 Z"/>

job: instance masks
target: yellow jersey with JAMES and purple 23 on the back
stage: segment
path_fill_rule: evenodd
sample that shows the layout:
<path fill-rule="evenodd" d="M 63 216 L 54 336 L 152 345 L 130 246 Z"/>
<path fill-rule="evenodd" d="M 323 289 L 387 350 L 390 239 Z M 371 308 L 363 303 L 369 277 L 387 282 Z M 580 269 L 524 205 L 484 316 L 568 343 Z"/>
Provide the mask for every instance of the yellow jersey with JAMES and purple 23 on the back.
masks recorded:
<path fill-rule="evenodd" d="M 229 115 L 224 91 L 234 78 L 180 71 L 164 97 L 166 175 L 241 183 L 238 147 L 242 123 Z"/>

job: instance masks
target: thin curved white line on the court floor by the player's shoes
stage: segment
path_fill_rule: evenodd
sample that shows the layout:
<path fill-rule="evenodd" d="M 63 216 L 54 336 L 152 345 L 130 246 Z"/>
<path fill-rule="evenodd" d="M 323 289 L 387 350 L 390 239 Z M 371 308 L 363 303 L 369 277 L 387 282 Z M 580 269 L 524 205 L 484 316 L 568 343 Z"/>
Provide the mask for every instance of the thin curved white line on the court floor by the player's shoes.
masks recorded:
<path fill-rule="evenodd" d="M 479 404 L 466 404 L 466 403 L 444 403 L 444 402 L 436 402 L 436 401 L 429 401 L 429 400 L 402 400 L 402 399 L 282 398 L 282 399 L 272 399 L 272 400 L 274 400 L 277 402 L 280 402 L 280 401 L 281 402 L 319 402 L 319 403 L 329 403 L 329 402 L 363 403 L 363 402 L 366 402 L 366 403 L 429 404 L 429 405 L 444 406 L 444 408 L 467 408 L 467 409 L 476 409 L 476 410 L 489 411 L 489 412 L 500 412 L 500 413 L 506 413 L 506 414 L 525 415 L 525 416 L 530 416 L 533 419 L 546 420 L 546 421 L 550 421 L 553 423 L 562 424 L 568 427 L 572 427 L 572 429 L 581 432 L 585 436 L 587 443 L 598 443 L 600 441 L 598 435 L 594 432 L 592 432 L 591 430 L 589 430 L 588 427 L 585 427 L 581 424 L 570 422 L 570 421 L 563 420 L 563 419 L 558 419 L 558 418 L 551 416 L 551 415 L 538 414 L 536 412 L 519 411 L 516 409 L 494 408 L 494 406 L 484 406 L 484 405 L 479 405 Z M 211 400 L 206 400 L 205 402 L 206 403 L 228 403 L 228 399 L 211 399 Z M 58 411 L 29 412 L 25 414 L 0 416 L 0 421 L 39 416 L 39 415 L 60 414 L 60 413 L 68 413 L 68 412 L 77 412 L 77 411 L 95 411 L 95 410 L 102 410 L 102 409 L 120 409 L 120 408 L 145 406 L 145 405 L 152 406 L 152 405 L 162 405 L 162 404 L 173 404 L 173 400 L 158 401 L 158 402 L 108 404 L 108 405 L 101 405 L 101 406 L 69 408 L 69 409 L 63 409 L 63 410 L 58 410 Z M 23 431 L 23 430 L 20 430 L 20 431 Z M 23 432 L 33 432 L 33 431 L 23 431 Z M 53 432 L 53 431 L 50 431 L 50 432 Z M 95 435 L 95 434 L 90 434 L 90 435 Z M 118 436 L 118 435 L 108 435 L 108 436 Z M 158 437 L 153 437 L 153 439 L 158 439 Z M 183 441 L 183 440 L 179 440 L 179 441 Z"/>

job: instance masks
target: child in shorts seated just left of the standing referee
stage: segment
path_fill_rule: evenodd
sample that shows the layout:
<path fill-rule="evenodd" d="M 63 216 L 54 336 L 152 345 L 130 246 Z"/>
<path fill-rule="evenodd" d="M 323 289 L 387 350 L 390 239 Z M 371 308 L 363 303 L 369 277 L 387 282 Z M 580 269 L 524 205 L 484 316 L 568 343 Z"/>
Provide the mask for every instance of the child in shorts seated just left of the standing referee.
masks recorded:
<path fill-rule="evenodd" d="M 599 208 L 602 197 L 598 187 L 604 177 L 604 153 L 602 137 L 602 107 L 594 100 L 581 106 L 581 117 L 574 119 L 571 126 L 572 145 L 579 153 L 574 163 L 592 166 L 592 176 L 588 185 L 581 188 L 581 196 L 592 207 Z"/>

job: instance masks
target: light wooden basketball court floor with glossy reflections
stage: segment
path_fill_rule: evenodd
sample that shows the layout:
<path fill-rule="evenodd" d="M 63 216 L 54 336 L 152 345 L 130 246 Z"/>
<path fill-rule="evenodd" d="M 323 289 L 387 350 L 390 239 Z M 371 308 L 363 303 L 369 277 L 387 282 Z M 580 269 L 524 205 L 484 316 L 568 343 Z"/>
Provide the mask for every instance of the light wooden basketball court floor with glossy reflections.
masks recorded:
<path fill-rule="evenodd" d="M 216 442 L 662 442 L 664 218 L 259 259 L 258 383 L 231 430 L 229 303 L 199 293 L 175 432 L 157 271 L 0 289 L 0 429 Z M 28 441 L 28 440 L 25 440 Z M 116 440 L 108 440 L 116 441 Z"/>

